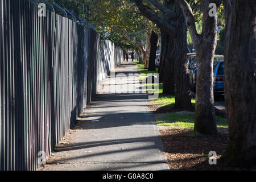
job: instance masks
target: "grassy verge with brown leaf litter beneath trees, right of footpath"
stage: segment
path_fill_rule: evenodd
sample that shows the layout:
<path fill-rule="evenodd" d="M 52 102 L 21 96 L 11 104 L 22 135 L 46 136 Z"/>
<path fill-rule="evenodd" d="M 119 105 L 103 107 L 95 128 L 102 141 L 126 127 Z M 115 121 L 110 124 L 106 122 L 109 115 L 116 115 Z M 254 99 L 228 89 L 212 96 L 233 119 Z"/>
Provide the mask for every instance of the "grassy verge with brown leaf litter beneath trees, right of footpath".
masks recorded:
<path fill-rule="evenodd" d="M 139 74 L 144 73 L 139 76 L 139 80 L 146 78 L 148 73 L 152 75 L 157 73 L 157 71 L 148 72 L 138 61 L 135 65 Z M 148 87 L 148 84 L 143 86 Z M 216 151 L 217 159 L 219 159 L 228 144 L 226 119 L 216 116 L 218 137 L 199 134 L 193 130 L 194 113 L 175 111 L 175 96 L 163 95 L 163 85 L 158 86 L 159 90 L 154 90 L 154 92 L 159 92 L 159 97 L 151 100 L 148 107 L 154 113 L 171 170 L 255 170 L 255 168 L 226 167 L 218 163 L 210 165 L 209 151 Z M 195 102 L 195 98 L 192 97 L 192 105 L 195 105 Z"/>

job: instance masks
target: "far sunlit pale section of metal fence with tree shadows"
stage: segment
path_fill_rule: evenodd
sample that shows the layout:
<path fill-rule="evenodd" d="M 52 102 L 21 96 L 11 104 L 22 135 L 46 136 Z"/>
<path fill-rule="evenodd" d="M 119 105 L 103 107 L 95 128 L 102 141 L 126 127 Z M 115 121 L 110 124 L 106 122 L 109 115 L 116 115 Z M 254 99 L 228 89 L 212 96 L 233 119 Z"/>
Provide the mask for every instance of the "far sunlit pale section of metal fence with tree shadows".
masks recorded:
<path fill-rule="evenodd" d="M 89 29 L 88 60 L 87 104 L 90 104 L 100 90 L 100 81 L 124 60 L 123 48 L 102 39 L 97 32 Z"/>

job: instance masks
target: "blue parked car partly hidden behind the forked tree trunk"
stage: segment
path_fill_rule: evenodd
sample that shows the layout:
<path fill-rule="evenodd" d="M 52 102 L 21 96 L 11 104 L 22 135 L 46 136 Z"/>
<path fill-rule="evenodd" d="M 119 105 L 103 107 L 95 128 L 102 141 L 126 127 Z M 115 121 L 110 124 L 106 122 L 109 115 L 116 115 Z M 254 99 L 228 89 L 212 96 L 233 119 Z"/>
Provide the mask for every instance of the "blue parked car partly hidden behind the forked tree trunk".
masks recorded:
<path fill-rule="evenodd" d="M 187 66 L 189 73 L 189 84 L 193 92 L 196 92 L 196 53 L 187 54 Z M 224 94 L 224 56 L 214 55 L 213 60 L 213 94 L 219 96 Z"/>

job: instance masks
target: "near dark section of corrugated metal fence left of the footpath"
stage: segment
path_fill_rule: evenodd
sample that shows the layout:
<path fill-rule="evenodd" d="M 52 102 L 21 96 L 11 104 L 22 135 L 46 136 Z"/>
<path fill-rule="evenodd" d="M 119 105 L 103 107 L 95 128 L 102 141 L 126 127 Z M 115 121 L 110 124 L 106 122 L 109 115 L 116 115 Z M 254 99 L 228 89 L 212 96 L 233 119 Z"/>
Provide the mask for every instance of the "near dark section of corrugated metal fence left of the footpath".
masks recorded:
<path fill-rule="evenodd" d="M 39 17 L 26 0 L 0 1 L 0 170 L 38 168 L 39 152 L 51 154 L 96 94 L 100 42 L 86 31 L 50 11 Z"/>

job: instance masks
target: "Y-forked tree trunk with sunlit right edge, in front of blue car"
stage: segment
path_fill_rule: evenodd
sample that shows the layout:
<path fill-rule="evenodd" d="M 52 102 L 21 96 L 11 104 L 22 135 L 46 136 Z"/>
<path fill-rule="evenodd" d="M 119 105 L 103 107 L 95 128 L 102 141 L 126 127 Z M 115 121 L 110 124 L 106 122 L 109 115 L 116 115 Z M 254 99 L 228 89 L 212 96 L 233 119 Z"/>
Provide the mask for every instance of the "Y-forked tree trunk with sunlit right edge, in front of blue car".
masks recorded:
<path fill-rule="evenodd" d="M 196 76 L 196 105 L 195 131 L 201 134 L 217 135 L 217 126 L 214 112 L 213 97 L 213 59 L 217 44 L 217 16 L 209 16 L 209 3 L 203 1 L 203 29 L 197 34 L 195 19 L 192 12 L 184 6 L 183 1 L 176 1 L 183 8 L 187 26 L 196 49 L 197 76 Z M 214 1 L 217 7 L 220 1 Z"/>

